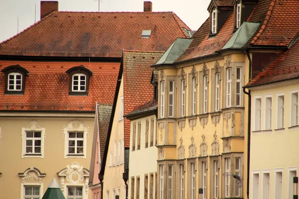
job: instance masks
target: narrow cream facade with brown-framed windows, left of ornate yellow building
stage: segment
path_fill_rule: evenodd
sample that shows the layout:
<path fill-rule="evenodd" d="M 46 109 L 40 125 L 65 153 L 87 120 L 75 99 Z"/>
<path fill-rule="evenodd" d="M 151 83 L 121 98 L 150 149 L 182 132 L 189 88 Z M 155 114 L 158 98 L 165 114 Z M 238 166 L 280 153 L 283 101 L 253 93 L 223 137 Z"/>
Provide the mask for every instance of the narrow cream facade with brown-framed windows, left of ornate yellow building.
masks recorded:
<path fill-rule="evenodd" d="M 140 149 L 138 148 L 139 125 L 141 131 Z M 148 131 L 148 136 L 146 136 L 146 131 Z M 134 135 L 136 136 L 136 139 L 133 140 Z M 147 139 L 148 145 L 146 144 Z M 134 150 L 133 141 L 136 142 Z M 137 199 L 137 195 L 140 196 L 140 199 L 155 199 L 157 180 L 157 148 L 155 147 L 155 141 L 155 115 L 144 116 L 138 119 L 131 120 L 128 199 Z"/>

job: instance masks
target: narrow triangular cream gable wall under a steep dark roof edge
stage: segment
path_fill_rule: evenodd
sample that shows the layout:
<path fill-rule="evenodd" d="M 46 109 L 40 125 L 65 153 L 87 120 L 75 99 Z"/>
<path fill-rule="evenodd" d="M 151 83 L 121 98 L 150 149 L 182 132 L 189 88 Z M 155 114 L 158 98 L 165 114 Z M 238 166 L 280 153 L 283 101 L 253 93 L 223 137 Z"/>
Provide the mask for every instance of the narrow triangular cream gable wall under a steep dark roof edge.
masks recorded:
<path fill-rule="evenodd" d="M 123 111 L 123 77 L 117 98 L 115 115 L 111 129 L 111 137 L 103 180 L 103 199 L 113 199 L 116 195 L 125 199 L 126 187 L 123 180 L 124 173 L 124 111 Z"/>

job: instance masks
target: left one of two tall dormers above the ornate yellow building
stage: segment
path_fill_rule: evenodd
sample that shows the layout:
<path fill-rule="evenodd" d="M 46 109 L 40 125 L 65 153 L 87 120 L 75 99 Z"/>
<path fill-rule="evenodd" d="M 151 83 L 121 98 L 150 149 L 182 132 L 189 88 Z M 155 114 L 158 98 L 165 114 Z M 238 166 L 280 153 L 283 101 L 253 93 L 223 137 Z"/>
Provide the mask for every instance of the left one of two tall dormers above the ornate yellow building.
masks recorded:
<path fill-rule="evenodd" d="M 232 0 L 211 0 L 208 11 L 210 13 L 210 35 L 216 35 L 224 22 L 233 11 Z"/>

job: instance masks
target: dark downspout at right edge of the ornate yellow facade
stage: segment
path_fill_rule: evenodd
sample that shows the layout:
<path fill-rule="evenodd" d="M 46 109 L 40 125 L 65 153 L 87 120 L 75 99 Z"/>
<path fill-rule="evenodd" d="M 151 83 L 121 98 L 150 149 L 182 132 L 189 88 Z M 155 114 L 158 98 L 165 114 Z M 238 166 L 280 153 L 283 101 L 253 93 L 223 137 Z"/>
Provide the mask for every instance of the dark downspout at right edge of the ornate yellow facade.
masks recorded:
<path fill-rule="evenodd" d="M 248 48 L 246 49 L 246 55 L 249 61 L 249 80 L 251 81 L 251 58 Z M 243 88 L 243 92 L 248 95 L 248 124 L 247 124 L 247 199 L 249 199 L 249 177 L 250 177 L 250 137 L 251 137 L 251 95 L 250 90 L 248 92 Z"/>

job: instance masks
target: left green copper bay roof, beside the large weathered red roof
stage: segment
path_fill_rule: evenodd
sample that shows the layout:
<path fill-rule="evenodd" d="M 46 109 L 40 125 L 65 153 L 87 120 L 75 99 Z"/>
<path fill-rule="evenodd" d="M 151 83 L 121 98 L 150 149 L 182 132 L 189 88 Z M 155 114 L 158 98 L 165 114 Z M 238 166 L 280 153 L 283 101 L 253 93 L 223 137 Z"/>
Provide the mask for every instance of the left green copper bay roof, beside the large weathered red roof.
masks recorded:
<path fill-rule="evenodd" d="M 158 64 L 172 64 L 188 48 L 193 39 L 177 38 L 157 61 Z"/>

